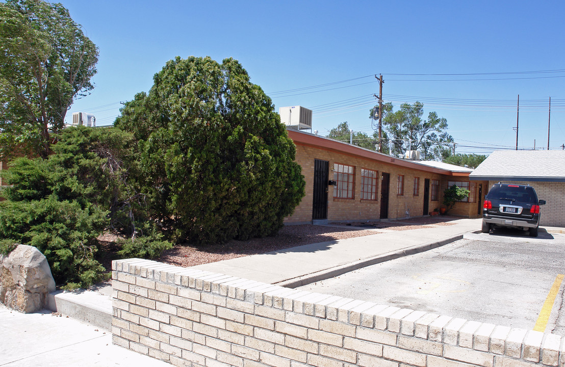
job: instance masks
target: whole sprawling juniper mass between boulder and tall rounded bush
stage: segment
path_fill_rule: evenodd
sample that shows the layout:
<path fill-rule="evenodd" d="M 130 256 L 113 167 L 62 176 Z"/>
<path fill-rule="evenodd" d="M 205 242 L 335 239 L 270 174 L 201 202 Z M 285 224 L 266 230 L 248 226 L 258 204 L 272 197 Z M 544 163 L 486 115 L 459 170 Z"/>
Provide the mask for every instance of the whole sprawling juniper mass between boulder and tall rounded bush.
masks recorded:
<path fill-rule="evenodd" d="M 127 255 L 156 256 L 170 248 L 147 224 L 144 195 L 128 180 L 135 172 L 132 146 L 132 135 L 119 129 L 69 128 L 49 158 L 12 161 L 2 172 L 12 186 L 0 203 L 0 251 L 14 243 L 37 247 L 55 281 L 73 288 L 103 278 L 97 237 L 108 228 L 137 239 Z"/>

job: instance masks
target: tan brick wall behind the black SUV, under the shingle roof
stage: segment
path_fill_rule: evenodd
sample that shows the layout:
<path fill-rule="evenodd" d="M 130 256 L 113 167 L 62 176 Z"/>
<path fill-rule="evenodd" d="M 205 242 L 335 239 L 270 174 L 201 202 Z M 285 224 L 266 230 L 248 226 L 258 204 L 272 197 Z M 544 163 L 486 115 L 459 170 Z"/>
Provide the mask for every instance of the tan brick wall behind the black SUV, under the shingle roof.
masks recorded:
<path fill-rule="evenodd" d="M 499 181 L 490 181 L 489 189 Z M 565 182 L 528 182 L 528 181 L 501 181 L 502 183 L 517 183 L 530 185 L 536 190 L 537 198 L 545 200 L 546 204 L 540 208 L 540 225 L 565 227 Z"/>

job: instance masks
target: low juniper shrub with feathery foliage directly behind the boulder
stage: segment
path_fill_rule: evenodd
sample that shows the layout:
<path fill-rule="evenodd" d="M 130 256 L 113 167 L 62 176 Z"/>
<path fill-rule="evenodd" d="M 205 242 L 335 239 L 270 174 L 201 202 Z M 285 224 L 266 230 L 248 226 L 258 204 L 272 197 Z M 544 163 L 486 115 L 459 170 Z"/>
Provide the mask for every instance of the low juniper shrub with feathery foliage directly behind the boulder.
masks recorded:
<path fill-rule="evenodd" d="M 47 258 L 55 282 L 69 288 L 102 280 L 105 269 L 95 259 L 96 238 L 106 224 L 106 212 L 97 206 L 82 208 L 76 201 L 59 201 L 55 195 L 0 202 L 0 237 L 5 243 L 37 247 Z"/>

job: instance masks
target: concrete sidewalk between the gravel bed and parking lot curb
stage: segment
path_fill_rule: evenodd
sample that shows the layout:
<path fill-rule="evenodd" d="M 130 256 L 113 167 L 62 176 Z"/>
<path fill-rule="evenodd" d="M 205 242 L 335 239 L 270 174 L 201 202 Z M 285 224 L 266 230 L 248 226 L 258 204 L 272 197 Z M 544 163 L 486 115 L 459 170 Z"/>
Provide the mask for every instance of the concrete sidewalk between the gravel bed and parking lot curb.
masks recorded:
<path fill-rule="evenodd" d="M 462 239 L 464 233 L 480 228 L 481 219 L 459 219 L 450 221 L 449 225 L 412 230 L 374 229 L 374 235 L 306 244 L 194 268 L 292 288 L 427 251 Z"/>

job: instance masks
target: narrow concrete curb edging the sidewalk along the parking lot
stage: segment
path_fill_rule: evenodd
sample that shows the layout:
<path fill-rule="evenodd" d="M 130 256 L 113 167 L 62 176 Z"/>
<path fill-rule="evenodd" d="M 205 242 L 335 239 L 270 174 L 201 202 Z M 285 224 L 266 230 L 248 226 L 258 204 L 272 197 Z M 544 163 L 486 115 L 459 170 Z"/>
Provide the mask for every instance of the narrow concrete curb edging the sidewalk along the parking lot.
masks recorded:
<path fill-rule="evenodd" d="M 367 257 L 367 259 L 355 261 L 354 263 L 334 266 L 333 268 L 328 268 L 328 269 L 320 270 L 315 273 L 310 273 L 303 276 L 286 279 L 284 281 L 276 282 L 273 284 L 277 286 L 289 287 L 289 288 L 300 287 L 324 279 L 337 277 L 340 276 L 341 274 L 349 273 L 353 270 L 361 269 L 366 266 L 384 263 L 385 261 L 399 259 L 400 257 L 405 257 L 408 255 L 419 254 L 420 252 L 432 250 L 432 248 L 445 246 L 448 243 L 459 241 L 460 239 L 463 239 L 463 234 L 458 234 L 453 237 L 446 238 L 442 241 L 418 244 L 416 246 L 402 248 L 401 250 L 388 252 L 386 254 Z"/>

